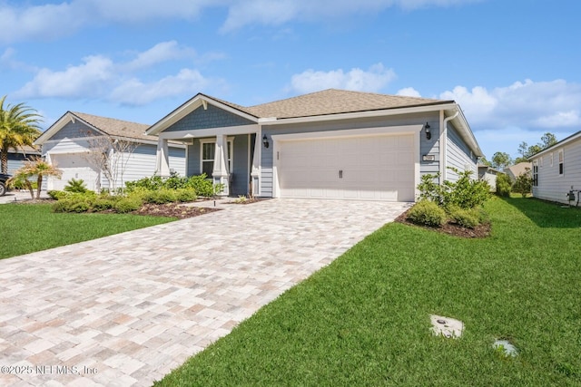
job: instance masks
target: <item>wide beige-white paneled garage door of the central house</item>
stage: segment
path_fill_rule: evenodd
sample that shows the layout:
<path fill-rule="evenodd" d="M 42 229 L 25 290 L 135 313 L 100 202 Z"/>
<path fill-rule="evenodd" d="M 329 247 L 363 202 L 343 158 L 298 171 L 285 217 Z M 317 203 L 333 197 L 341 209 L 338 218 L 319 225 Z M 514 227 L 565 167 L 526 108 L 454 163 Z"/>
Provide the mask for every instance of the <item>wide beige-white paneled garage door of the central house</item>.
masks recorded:
<path fill-rule="evenodd" d="M 414 200 L 414 136 L 284 140 L 282 198 Z"/>

